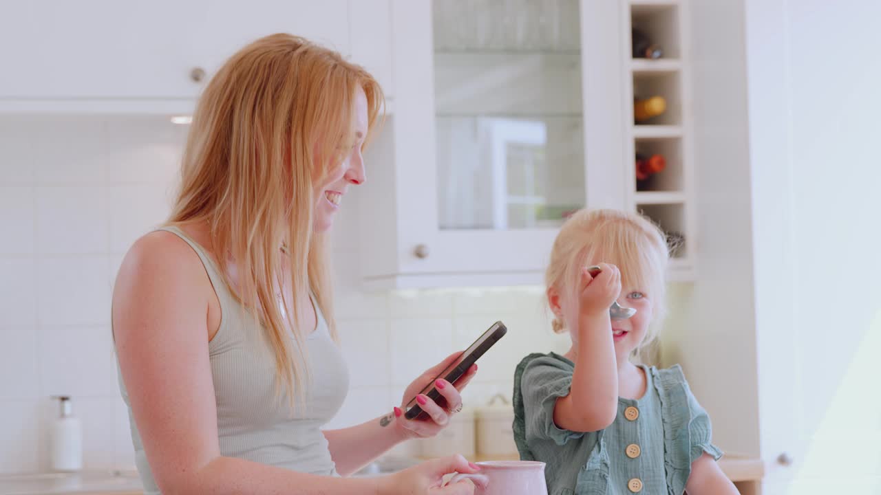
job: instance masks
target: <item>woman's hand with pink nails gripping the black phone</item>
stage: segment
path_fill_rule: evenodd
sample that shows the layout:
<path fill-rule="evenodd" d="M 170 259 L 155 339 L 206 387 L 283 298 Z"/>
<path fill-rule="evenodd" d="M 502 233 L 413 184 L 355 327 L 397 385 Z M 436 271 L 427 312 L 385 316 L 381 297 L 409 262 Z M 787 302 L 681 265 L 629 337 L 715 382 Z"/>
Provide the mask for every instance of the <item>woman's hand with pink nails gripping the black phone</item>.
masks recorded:
<path fill-rule="evenodd" d="M 410 386 L 403 392 L 401 407 L 395 408 L 395 426 L 404 438 L 433 437 L 449 424 L 449 418 L 452 415 L 461 410 L 462 396 L 459 395 L 459 392 L 474 378 L 475 373 L 478 372 L 477 365 L 471 366 L 459 380 L 456 380 L 455 387 L 442 378 L 434 382 L 434 387 L 438 389 L 441 397 L 443 397 L 441 404 L 435 403 L 427 395 L 419 394 L 423 388 L 426 388 L 434 380 L 434 377 L 446 369 L 447 366 L 453 364 L 461 355 L 461 351 L 450 354 L 441 363 L 427 369 L 425 373 L 422 373 L 416 380 L 413 380 Z M 426 411 L 427 417 L 407 419 L 403 416 L 407 403 L 410 402 L 414 395 L 416 395 L 416 402 L 419 404 L 419 407 Z"/>

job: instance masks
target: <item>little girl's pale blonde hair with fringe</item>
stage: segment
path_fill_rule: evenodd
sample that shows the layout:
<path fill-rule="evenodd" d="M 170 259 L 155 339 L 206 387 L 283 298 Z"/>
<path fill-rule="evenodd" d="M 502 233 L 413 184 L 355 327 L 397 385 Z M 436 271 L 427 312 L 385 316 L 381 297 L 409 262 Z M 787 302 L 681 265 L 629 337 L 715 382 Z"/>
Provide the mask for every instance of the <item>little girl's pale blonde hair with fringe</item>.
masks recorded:
<path fill-rule="evenodd" d="M 652 301 L 655 317 L 641 348 L 655 340 L 663 321 L 669 259 L 665 235 L 648 218 L 626 211 L 579 210 L 566 220 L 554 240 L 544 282 L 556 288 L 571 306 L 578 297 L 575 292 L 582 267 L 589 262 L 617 265 L 622 291 L 639 289 Z M 560 333 L 566 322 L 555 315 L 552 326 Z"/>

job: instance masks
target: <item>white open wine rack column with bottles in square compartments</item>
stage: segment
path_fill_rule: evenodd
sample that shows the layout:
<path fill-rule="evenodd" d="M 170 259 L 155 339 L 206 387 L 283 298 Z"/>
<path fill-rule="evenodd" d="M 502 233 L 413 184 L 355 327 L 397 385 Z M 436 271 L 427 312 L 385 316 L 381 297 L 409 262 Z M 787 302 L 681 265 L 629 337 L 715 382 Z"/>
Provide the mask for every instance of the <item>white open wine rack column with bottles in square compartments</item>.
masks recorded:
<path fill-rule="evenodd" d="M 631 108 L 635 100 L 662 97 L 666 108 L 662 115 L 633 122 L 627 126 L 632 139 L 626 146 L 626 159 L 633 164 L 635 155 L 646 158 L 661 155 L 664 169 L 647 179 L 636 179 L 633 169 L 628 198 L 633 211 L 645 215 L 667 234 L 670 247 L 670 280 L 693 281 L 697 278 L 695 260 L 694 209 L 696 208 L 692 163 L 692 117 L 687 103 L 690 60 L 688 23 L 683 21 L 688 0 L 629 0 L 621 5 L 623 40 L 623 78 L 631 83 L 623 101 Z M 659 58 L 633 57 L 633 31 L 640 31 L 648 43 L 660 48 Z M 640 48 L 641 50 L 642 48 Z M 641 55 L 641 54 L 640 54 Z M 633 115 L 628 115 L 633 119 Z M 633 166 L 633 165 L 631 165 Z"/>

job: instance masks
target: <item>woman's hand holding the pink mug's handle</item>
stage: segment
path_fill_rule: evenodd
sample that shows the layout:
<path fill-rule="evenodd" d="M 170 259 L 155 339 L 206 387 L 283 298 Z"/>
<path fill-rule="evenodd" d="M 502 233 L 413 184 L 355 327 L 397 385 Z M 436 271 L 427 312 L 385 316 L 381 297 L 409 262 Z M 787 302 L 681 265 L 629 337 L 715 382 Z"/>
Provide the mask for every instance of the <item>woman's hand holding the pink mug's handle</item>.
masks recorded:
<path fill-rule="evenodd" d="M 433 459 L 382 480 L 380 492 L 382 495 L 472 495 L 474 484 L 470 480 L 442 486 L 443 477 L 453 472 L 472 474 L 479 469 L 477 464 L 459 454 Z"/>

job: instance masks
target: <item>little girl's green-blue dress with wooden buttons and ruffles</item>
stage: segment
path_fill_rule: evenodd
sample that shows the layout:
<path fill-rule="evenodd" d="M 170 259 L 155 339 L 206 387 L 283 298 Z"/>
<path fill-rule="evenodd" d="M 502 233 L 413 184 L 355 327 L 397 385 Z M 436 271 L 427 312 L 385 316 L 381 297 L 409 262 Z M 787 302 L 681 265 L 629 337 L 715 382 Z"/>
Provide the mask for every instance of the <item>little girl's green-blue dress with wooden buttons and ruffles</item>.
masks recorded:
<path fill-rule="evenodd" d="M 640 399 L 618 398 L 615 422 L 599 432 L 570 432 L 553 422 L 569 394 L 575 365 L 559 354 L 530 354 L 514 376 L 514 438 L 523 460 L 545 462 L 551 495 L 682 495 L 694 462 L 722 451 L 712 444 L 707 411 L 678 365 L 646 372 Z"/>

